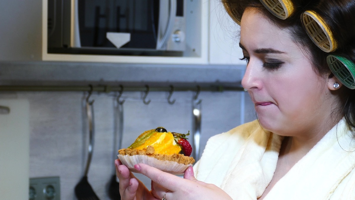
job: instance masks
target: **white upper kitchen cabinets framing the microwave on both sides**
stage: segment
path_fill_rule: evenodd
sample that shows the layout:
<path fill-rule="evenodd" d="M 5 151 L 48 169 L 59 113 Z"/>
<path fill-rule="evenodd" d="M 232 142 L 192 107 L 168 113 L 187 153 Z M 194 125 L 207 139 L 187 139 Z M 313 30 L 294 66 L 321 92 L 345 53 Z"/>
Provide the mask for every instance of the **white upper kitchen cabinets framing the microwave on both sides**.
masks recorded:
<path fill-rule="evenodd" d="M 182 57 L 47 53 L 47 1 L 0 2 L 0 16 L 3 19 L 0 22 L 0 61 L 244 64 L 238 60 L 241 57 L 235 38 L 238 26 L 226 14 L 220 0 L 186 1 L 191 4 L 186 12 L 188 50 Z"/>

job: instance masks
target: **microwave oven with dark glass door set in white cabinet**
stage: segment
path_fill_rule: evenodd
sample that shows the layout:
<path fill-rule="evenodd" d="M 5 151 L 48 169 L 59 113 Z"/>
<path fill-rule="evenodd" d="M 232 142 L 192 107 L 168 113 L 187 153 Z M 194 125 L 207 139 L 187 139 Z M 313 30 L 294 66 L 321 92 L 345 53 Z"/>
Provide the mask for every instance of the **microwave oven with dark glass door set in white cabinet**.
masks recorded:
<path fill-rule="evenodd" d="M 161 55 L 186 48 L 186 0 L 48 0 L 48 53 Z"/>

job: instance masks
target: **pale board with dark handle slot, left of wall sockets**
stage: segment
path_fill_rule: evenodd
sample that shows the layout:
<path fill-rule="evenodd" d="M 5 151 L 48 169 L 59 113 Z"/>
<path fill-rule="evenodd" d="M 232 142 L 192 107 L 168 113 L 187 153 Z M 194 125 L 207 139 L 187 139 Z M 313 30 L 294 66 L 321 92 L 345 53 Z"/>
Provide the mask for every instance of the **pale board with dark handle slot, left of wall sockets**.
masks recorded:
<path fill-rule="evenodd" d="M 29 102 L 27 100 L 0 100 L 0 160 L 1 199 L 28 199 Z"/>

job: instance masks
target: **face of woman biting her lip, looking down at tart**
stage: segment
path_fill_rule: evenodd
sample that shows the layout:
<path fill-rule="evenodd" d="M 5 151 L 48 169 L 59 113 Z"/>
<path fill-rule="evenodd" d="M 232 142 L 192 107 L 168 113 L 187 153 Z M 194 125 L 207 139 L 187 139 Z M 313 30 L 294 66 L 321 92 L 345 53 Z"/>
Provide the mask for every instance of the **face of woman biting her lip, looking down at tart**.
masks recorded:
<path fill-rule="evenodd" d="M 247 60 L 242 85 L 264 129 L 285 136 L 307 134 L 328 119 L 334 100 L 328 79 L 313 71 L 309 57 L 286 30 L 248 8 L 241 20 L 240 46 Z"/>

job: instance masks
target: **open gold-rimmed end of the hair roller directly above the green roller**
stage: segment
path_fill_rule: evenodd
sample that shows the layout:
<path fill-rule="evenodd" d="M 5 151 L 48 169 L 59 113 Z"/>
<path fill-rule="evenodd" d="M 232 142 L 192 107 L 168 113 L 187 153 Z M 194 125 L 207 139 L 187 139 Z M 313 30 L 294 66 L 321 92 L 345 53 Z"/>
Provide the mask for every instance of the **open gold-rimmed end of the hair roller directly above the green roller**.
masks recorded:
<path fill-rule="evenodd" d="M 303 25 L 308 36 L 324 52 L 333 52 L 337 49 L 332 31 L 316 12 L 307 10 L 302 14 Z"/>

